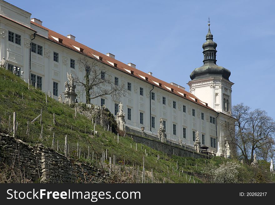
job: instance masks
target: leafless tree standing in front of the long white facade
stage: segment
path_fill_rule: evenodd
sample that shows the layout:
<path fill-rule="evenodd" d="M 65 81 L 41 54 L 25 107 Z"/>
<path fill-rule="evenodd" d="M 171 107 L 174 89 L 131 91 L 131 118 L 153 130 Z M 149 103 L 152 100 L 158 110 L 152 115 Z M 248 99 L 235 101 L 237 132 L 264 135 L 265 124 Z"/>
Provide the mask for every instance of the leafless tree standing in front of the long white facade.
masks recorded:
<path fill-rule="evenodd" d="M 85 75 L 83 78 L 76 76 L 76 83 L 80 86 L 79 93 L 85 93 L 86 103 L 101 96 L 110 96 L 116 102 L 125 96 L 125 85 L 115 82 L 101 60 L 99 57 L 87 56 L 79 57 L 77 60 L 80 71 L 85 71 Z"/>

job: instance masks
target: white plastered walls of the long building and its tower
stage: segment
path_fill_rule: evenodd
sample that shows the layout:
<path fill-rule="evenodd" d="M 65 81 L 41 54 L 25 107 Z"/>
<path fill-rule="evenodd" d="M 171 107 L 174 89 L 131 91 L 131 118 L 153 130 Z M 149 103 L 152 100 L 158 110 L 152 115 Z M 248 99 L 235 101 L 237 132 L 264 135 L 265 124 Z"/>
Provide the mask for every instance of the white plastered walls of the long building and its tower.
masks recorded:
<path fill-rule="evenodd" d="M 38 81 L 37 77 L 39 77 L 39 81 L 42 77 L 41 89 L 44 92 L 50 90 L 52 95 L 56 94 L 54 95 L 54 98 L 58 100 L 58 95 L 62 94 L 65 90 L 64 83 L 67 81 L 67 72 L 69 74 L 72 73 L 73 76 L 76 74 L 79 77 L 84 76 L 85 71 L 80 71 L 79 66 L 76 63 L 77 59 L 82 54 L 50 40 L 46 29 L 31 23 L 30 13 L 4 1 L 0 2 L 0 7 L 0 14 L 2 15 L 0 16 L 1 32 L 5 32 L 5 37 L 0 38 L 1 59 L 5 57 L 5 59 L 8 60 L 8 64 L 20 67 L 21 71 L 24 71 L 24 74 L 21 77 L 26 82 L 30 78 L 30 66 L 30 72 L 32 76 L 35 75 L 36 81 Z M 37 22 L 37 19 L 33 19 L 32 21 Z M 38 24 L 40 24 L 39 21 Z M 10 41 L 11 39 L 9 39 L 8 36 L 9 31 L 13 32 L 14 35 L 17 34 L 21 36 L 20 44 L 18 44 L 18 41 L 16 43 L 15 40 L 14 42 Z M 31 40 L 35 32 L 37 32 L 38 35 Z M 54 36 L 52 37 L 55 38 Z M 69 35 L 68 37 L 72 39 L 72 35 Z M 63 39 L 64 38 L 67 37 L 64 36 Z M 42 53 L 40 52 L 41 50 L 38 52 L 37 46 L 36 52 L 30 52 L 30 42 L 42 46 Z M 41 47 L 39 48 L 41 49 Z M 54 59 L 54 52 L 58 53 L 58 62 L 54 61 L 57 60 Z M 112 56 L 108 54 L 111 58 L 115 57 L 113 54 L 111 55 Z M 75 68 L 71 68 L 71 59 L 75 60 Z M 216 151 L 217 141 L 223 143 L 223 132 L 220 122 L 226 119 L 231 108 L 228 111 L 223 110 L 222 101 L 223 98 L 226 98 L 229 101 L 228 105 L 231 105 L 231 86 L 233 84 L 230 81 L 209 78 L 204 79 L 203 81 L 190 81 L 188 83 L 191 90 L 193 90 L 192 94 L 198 96 L 200 100 L 208 103 L 209 107 L 215 109 L 215 111 L 207 108 L 207 106 L 202 106 L 192 100 L 187 100 L 184 97 L 175 95 L 158 86 L 155 86 L 152 90 L 152 83 L 148 83 L 133 75 L 114 69 L 112 66 L 105 66 L 108 74 L 113 76 L 113 78 L 118 77 L 119 83 L 124 83 L 126 89 L 128 82 L 131 83 L 131 90 L 128 90 L 127 95 L 122 98 L 124 112 L 126 113 L 126 126 L 138 130 L 140 130 L 141 127 L 145 127 L 146 133 L 157 135 L 159 119 L 163 118 L 166 122 L 167 138 L 170 140 L 175 142 L 182 140 L 183 144 L 193 146 L 193 133 L 199 131 L 201 145 L 205 144 L 210 149 Z M 53 90 L 54 86 L 58 89 L 55 89 L 55 92 Z M 140 88 L 143 88 L 143 95 L 140 95 Z M 78 87 L 76 88 L 76 92 L 77 90 Z M 151 100 L 151 116 L 154 117 L 155 121 L 154 126 L 152 124 L 151 127 L 152 132 L 150 132 L 150 90 L 152 90 L 155 96 L 155 99 Z M 184 90 L 184 88 L 182 88 L 182 90 Z M 78 102 L 85 102 L 84 97 L 85 95 L 78 96 Z M 163 102 L 163 97 L 165 97 L 165 103 Z M 108 96 L 102 98 L 105 99 L 106 107 L 115 114 L 114 102 L 111 101 Z M 91 103 L 101 105 L 101 98 L 93 99 Z M 119 104 L 119 102 L 117 102 L 117 104 Z M 131 120 L 128 119 L 128 108 L 131 109 Z M 219 115 L 217 111 L 222 112 L 225 115 Z M 140 113 L 143 113 L 143 124 L 140 123 Z M 151 120 L 153 119 L 151 118 Z M 185 134 L 184 129 L 186 129 Z M 202 139 L 203 135 L 204 140 Z"/>

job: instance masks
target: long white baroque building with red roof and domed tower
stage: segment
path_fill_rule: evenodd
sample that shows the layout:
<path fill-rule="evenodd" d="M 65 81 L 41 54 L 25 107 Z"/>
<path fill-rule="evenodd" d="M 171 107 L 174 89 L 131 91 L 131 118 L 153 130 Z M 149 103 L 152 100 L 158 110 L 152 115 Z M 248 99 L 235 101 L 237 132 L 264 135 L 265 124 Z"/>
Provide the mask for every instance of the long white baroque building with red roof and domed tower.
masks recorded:
<path fill-rule="evenodd" d="M 209 25 L 210 26 L 210 25 Z M 222 122 L 231 112 L 230 71 L 216 65 L 216 47 L 210 27 L 203 44 L 203 66 L 196 68 L 188 82 L 190 92 L 181 85 L 167 83 L 136 68 L 124 64 L 111 53 L 100 53 L 85 46 L 76 37 L 63 36 L 42 26 L 42 21 L 31 18 L 31 13 L 8 2 L 0 1 L 0 57 L 7 60 L 6 69 L 16 67 L 21 77 L 54 99 L 65 90 L 67 73 L 84 77 L 85 71 L 76 63 L 81 56 L 97 58 L 116 84 L 124 84 L 125 97 L 120 100 L 126 113 L 126 127 L 157 135 L 159 119 L 163 119 L 166 137 L 170 141 L 194 148 L 196 133 L 201 145 L 217 152 L 217 142 L 224 150 Z M 78 91 L 78 86 L 76 87 Z M 85 95 L 78 96 L 85 102 Z M 119 102 L 108 96 L 91 100 L 92 104 L 106 105 L 116 115 Z"/>

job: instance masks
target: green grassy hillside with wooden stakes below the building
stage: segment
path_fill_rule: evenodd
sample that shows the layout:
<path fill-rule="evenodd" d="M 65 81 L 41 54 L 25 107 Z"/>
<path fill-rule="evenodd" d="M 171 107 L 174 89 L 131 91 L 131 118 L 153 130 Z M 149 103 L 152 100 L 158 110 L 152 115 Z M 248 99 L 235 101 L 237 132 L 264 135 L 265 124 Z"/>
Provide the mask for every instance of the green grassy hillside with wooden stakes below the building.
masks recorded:
<path fill-rule="evenodd" d="M 22 99 L 23 95 L 23 99 Z M 40 120 L 36 120 L 30 124 L 30 134 L 27 136 L 27 121 L 31 122 L 40 114 L 42 109 L 42 124 L 43 135 L 40 139 L 41 124 Z M 65 135 L 68 136 L 69 143 L 69 156 L 75 160 L 80 160 L 91 164 L 93 166 L 100 166 L 99 161 L 102 152 L 106 152 L 108 160 L 105 160 L 105 165 L 109 163 L 109 157 L 116 156 L 117 170 L 122 167 L 120 176 L 127 178 L 128 182 L 137 182 L 137 169 L 139 168 L 138 182 L 142 179 L 142 165 L 144 156 L 144 165 L 146 171 L 145 182 L 151 183 L 151 170 L 153 169 L 153 182 L 162 183 L 202 183 L 205 182 L 205 177 L 201 174 L 201 170 L 207 164 L 218 166 L 226 161 L 232 161 L 220 157 L 213 159 L 194 159 L 184 158 L 178 156 L 168 156 L 162 152 L 149 148 L 148 146 L 137 144 L 131 138 L 119 136 L 117 142 L 117 135 L 104 131 L 101 126 L 96 127 L 98 134 L 93 136 L 91 130 L 93 129 L 92 122 L 85 116 L 77 114 L 74 116 L 74 110 L 69 108 L 68 105 L 62 105 L 58 101 L 48 98 L 46 104 L 45 93 L 40 90 L 35 90 L 32 86 L 28 90 L 28 85 L 17 76 L 13 75 L 7 70 L 0 68 L 0 116 L 1 124 L 0 131 L 12 134 L 8 129 L 9 116 L 13 112 L 17 112 L 18 130 L 16 137 L 35 145 L 42 143 L 44 146 L 51 147 L 53 133 L 55 133 L 55 144 L 59 141 L 63 153 Z M 53 113 L 57 124 L 53 124 Z M 12 122 L 12 120 L 11 120 Z M 11 123 L 12 124 L 12 123 Z M 86 134 L 85 134 L 86 130 Z M 77 143 L 81 148 L 81 158 L 76 157 Z M 88 146 L 90 153 L 94 152 L 94 160 L 87 159 Z M 132 148 L 131 148 L 132 146 Z M 56 147 L 55 147 L 56 150 Z M 146 151 L 145 151 L 146 150 Z M 145 154 L 147 153 L 147 155 Z M 85 158 L 84 158 L 85 154 Z M 160 159 L 158 160 L 158 155 Z M 178 169 L 177 169 L 178 164 Z M 264 164 L 264 163 L 263 163 Z M 134 166 L 134 180 L 133 178 Z M 268 166 L 264 165 L 265 168 Z M 108 167 L 105 166 L 108 171 Z M 130 171 L 129 171 L 130 170 Z M 251 178 L 255 178 L 255 173 L 249 166 L 241 165 L 240 182 L 250 182 Z M 118 177 L 118 176 L 117 176 Z M 259 177 L 259 180 L 271 181 L 271 175 Z"/>

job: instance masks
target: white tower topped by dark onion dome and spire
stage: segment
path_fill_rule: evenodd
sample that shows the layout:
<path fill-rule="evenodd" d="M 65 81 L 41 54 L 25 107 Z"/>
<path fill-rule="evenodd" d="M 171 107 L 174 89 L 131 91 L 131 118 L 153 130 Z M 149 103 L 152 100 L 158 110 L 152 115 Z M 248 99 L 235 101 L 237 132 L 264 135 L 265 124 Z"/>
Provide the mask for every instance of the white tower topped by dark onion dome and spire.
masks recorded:
<path fill-rule="evenodd" d="M 208 21 L 206 42 L 203 43 L 203 66 L 196 68 L 190 74 L 191 81 L 187 83 L 190 93 L 207 103 L 209 107 L 226 115 L 231 113 L 232 83 L 229 81 L 230 71 L 217 66 L 217 43 L 213 41 Z"/>

